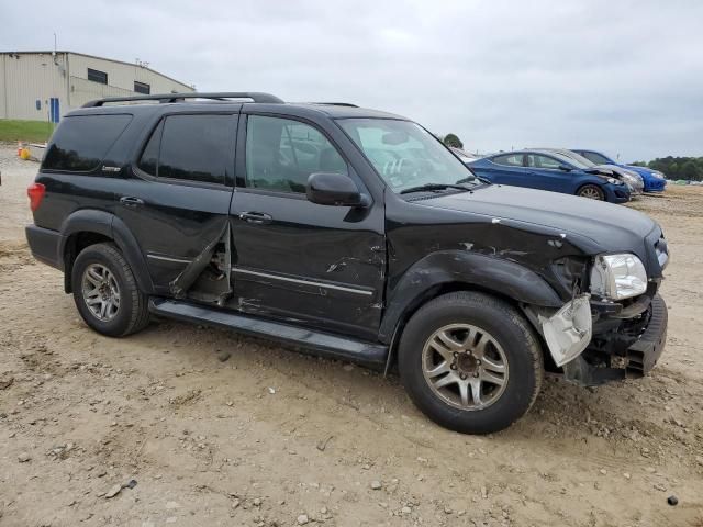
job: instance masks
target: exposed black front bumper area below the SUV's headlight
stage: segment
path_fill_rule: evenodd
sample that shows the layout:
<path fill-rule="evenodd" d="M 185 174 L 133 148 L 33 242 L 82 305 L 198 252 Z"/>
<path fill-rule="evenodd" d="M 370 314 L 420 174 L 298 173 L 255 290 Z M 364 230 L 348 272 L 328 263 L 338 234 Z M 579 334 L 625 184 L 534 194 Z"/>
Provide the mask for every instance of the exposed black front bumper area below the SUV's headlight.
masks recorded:
<path fill-rule="evenodd" d="M 593 386 L 623 379 L 639 379 L 657 365 L 667 340 L 669 314 L 656 294 L 641 322 L 624 321 L 616 330 L 594 335 L 591 346 L 563 366 L 566 380 Z M 635 334 L 633 334 L 635 332 Z M 595 346 L 595 343 L 599 346 Z"/>

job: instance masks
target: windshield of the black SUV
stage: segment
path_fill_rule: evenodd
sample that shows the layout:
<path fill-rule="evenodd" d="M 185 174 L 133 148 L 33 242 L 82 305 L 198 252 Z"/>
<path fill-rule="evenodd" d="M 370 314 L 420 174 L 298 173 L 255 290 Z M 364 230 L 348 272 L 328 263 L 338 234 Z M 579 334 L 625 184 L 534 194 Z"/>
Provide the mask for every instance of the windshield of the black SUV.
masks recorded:
<path fill-rule="evenodd" d="M 389 119 L 341 119 L 339 126 L 394 192 L 432 184 L 479 181 L 422 126 Z"/>

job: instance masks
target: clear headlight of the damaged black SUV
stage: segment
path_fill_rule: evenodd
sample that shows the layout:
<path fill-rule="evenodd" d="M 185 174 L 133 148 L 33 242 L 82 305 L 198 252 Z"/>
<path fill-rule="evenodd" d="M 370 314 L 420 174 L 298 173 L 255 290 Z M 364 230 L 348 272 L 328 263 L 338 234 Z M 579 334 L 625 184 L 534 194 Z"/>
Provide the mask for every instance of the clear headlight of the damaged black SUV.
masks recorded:
<path fill-rule="evenodd" d="M 647 271 L 635 255 L 600 255 L 591 270 L 591 292 L 612 300 L 647 291 Z"/>

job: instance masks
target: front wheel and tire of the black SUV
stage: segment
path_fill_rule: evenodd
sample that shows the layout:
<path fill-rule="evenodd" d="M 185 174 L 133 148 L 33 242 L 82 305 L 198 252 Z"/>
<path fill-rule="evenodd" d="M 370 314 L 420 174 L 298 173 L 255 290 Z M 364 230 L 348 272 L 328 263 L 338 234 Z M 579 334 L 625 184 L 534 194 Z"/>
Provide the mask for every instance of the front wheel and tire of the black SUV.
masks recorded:
<path fill-rule="evenodd" d="M 465 351 L 451 351 L 461 343 Z M 544 378 L 542 346 L 528 322 L 506 302 L 477 292 L 448 293 L 421 307 L 403 330 L 398 360 L 415 405 L 438 425 L 462 434 L 507 428 L 533 405 Z M 473 396 L 477 385 L 480 402 Z"/>

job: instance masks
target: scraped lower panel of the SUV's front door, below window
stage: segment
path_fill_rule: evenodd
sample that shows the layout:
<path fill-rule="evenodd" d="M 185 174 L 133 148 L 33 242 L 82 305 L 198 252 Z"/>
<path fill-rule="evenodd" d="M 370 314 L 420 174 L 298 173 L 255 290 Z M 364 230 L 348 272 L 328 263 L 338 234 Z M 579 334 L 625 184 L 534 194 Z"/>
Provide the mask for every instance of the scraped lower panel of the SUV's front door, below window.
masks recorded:
<path fill-rule="evenodd" d="M 246 211 L 270 221 L 252 222 Z M 230 221 L 234 307 L 376 337 L 386 274 L 381 206 L 358 213 L 237 191 Z"/>

